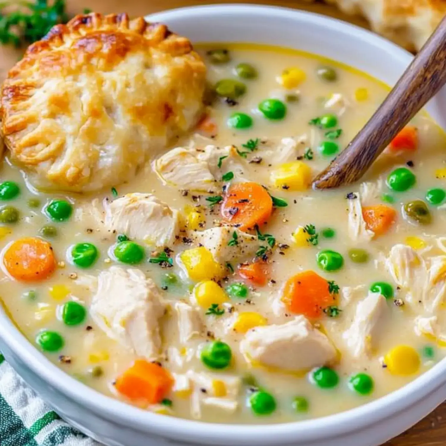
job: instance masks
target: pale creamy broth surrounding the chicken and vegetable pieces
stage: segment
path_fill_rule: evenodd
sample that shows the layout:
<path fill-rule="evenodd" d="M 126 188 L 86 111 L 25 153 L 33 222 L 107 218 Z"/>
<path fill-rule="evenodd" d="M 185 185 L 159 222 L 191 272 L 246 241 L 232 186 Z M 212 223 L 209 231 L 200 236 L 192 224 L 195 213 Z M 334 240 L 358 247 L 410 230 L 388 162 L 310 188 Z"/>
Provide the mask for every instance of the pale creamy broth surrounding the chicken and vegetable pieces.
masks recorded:
<path fill-rule="evenodd" d="M 229 297 L 227 303 L 218 307 L 218 310 L 224 310 L 222 315 L 206 315 L 208 309 L 198 307 L 200 318 L 206 324 L 206 330 L 202 336 L 196 336 L 183 345 L 178 340 L 178 326 L 173 305 L 180 299 L 186 303 L 190 303 L 191 299 L 194 302 L 194 298 L 191 297 L 194 294 L 192 288 L 197 281 L 188 278 L 179 260 L 182 251 L 194 246 L 187 243 L 187 240 L 183 243 L 183 237 L 187 239 L 190 234 L 183 230 L 178 234 L 177 242 L 169 246 L 172 249 L 169 256 L 173 259 L 171 268 L 163 268 L 160 264 L 149 263 L 147 260 L 134 266 L 120 264 L 113 255 L 118 233 L 113 233 L 104 227 L 104 217 L 100 213 L 102 203 L 109 206 L 110 202 L 116 198 L 110 190 L 94 196 L 41 193 L 27 184 L 24 175 L 17 167 L 10 164 L 7 156 L 1 171 L 1 181 L 17 182 L 21 193 L 17 198 L 1 204 L 16 207 L 21 217 L 17 223 L 0 226 L 2 237 L 0 247 L 5 252 L 12 241 L 25 236 L 41 236 L 39 232 L 41 228 L 52 225 L 56 228 L 57 235 L 52 237 L 43 235 L 43 238 L 50 241 L 58 261 L 58 267 L 50 278 L 35 283 L 13 280 L 2 262 L 1 297 L 12 319 L 32 343 L 35 343 L 36 336 L 41 330 L 54 330 L 60 333 L 65 341 L 64 347 L 59 351 L 45 354 L 62 370 L 88 386 L 131 404 L 178 417 L 195 417 L 202 421 L 231 423 L 296 421 L 351 409 L 400 388 L 444 356 L 442 345 L 446 344 L 442 344 L 441 341 L 436 342 L 435 339 L 435 336 L 440 336 L 441 328 L 445 327 L 442 296 L 444 291 L 440 292 L 440 303 L 435 311 L 425 310 L 421 302 L 419 308 L 414 303 L 409 305 L 408 289 L 398 286 L 389 267 L 384 264 L 384 259 L 396 244 L 411 244 L 412 246 L 417 244 L 416 248 L 421 249 L 416 252 L 428 262 L 431 257 L 444 255 L 438 238 L 444 234 L 445 209 L 442 208 L 442 203 L 429 204 L 425 195 L 432 188 L 444 187 L 445 180 L 442 177 L 446 177 L 445 135 L 429 117 L 422 113 L 416 116 L 410 125 L 417 128 L 417 150 L 384 153 L 362 180 L 368 182 L 367 197 L 365 197 L 366 194 L 359 195 L 363 192 L 363 186 L 361 187 L 360 184 L 324 192 L 313 191 L 310 187 L 303 191 L 293 190 L 292 187 L 287 189 L 286 186 L 285 188 L 275 187 L 270 178 L 271 173 L 285 162 L 299 160 L 305 163 L 310 167 L 312 176 L 321 171 L 334 157 L 334 155 L 326 157 L 321 154 L 318 146 L 322 141 L 333 141 L 339 145 L 340 149 L 345 147 L 383 101 L 388 88 L 362 73 L 335 62 L 291 50 L 256 45 L 226 45 L 224 48 L 229 50 L 231 60 L 227 63 L 212 64 L 206 52 L 214 48 L 214 45 L 198 46 L 198 52 L 202 54 L 208 67 L 210 83 L 215 84 L 226 78 L 236 79 L 234 69 L 239 63 L 252 64 L 258 76 L 253 79 L 239 79 L 246 84 L 247 90 L 244 95 L 235 99 L 236 103 L 217 99 L 209 107 L 209 116 L 218 125 L 218 133 L 215 137 L 207 139 L 197 135 L 187 136 L 179 139 L 171 148 L 186 147 L 190 143 L 194 143 L 198 148 L 206 145 L 219 147 L 234 145 L 240 153 L 247 152 L 246 157 L 240 155 L 234 157 L 231 161 L 234 163 L 232 165 L 227 164 L 228 160 L 222 160 L 218 176 L 228 171 L 235 171 L 235 178 L 231 180 L 231 184 L 246 180 L 256 182 L 267 186 L 271 195 L 288 203 L 286 207 L 275 207 L 268 223 L 260 227 L 261 233 L 273 235 L 276 241 L 274 248 L 266 252 L 270 279 L 268 283 L 265 286 L 253 285 L 238 275 L 237 265 L 241 261 L 251 260 L 252 256 L 249 258 L 242 256 L 241 259 L 231 260 L 235 273 L 231 273 L 224 264 L 223 267 L 227 269 L 219 283 L 226 288 L 232 283 L 242 282 L 249 289 L 248 295 L 243 298 Z M 218 45 L 218 48 L 223 48 L 223 46 Z M 321 79 L 317 75 L 321 66 L 332 67 L 337 74 L 337 79 L 331 82 Z M 305 79 L 301 80 L 295 88 L 286 89 L 281 86 L 278 79 L 280 80 L 282 72 L 290 67 L 298 67 L 302 70 L 305 73 Z M 262 100 L 267 98 L 278 98 L 285 103 L 287 113 L 284 119 L 265 119 L 257 107 Z M 235 112 L 252 116 L 252 126 L 247 129 L 228 128 L 227 120 Z M 338 124 L 326 129 L 309 124 L 310 120 L 326 114 L 335 115 Z M 324 136 L 326 132 L 337 129 L 342 129 L 342 133 L 336 139 L 330 140 Z M 297 148 L 293 149 L 291 157 L 286 157 L 286 154 L 283 155 L 281 152 L 282 138 L 293 138 L 297 141 Z M 254 151 L 243 146 L 248 140 L 256 141 Z M 312 159 L 308 159 L 311 157 L 308 149 L 311 149 L 313 153 Z M 305 157 L 304 154 L 306 154 Z M 157 157 L 161 155 L 162 153 L 159 153 Z M 261 157 L 261 161 L 257 163 L 259 158 L 254 159 L 255 157 Z M 240 166 L 243 174 L 237 173 Z M 133 181 L 117 184 L 117 195 L 122 197 L 135 192 L 154 194 L 172 209 L 180 211 L 185 220 L 188 213 L 196 209 L 200 212 L 200 218 L 204 219 L 198 231 L 214 227 L 215 223 L 221 219 L 220 203 L 212 207 L 206 198 L 222 194 L 222 183 L 218 183 L 219 191 L 217 190 L 214 194 L 189 190 L 186 195 L 185 192 L 179 191 L 183 188 L 163 183 L 153 167 L 153 163 L 148 163 Z M 404 192 L 396 192 L 386 185 L 388 175 L 399 167 L 409 169 L 416 176 L 416 184 Z M 445 170 L 441 171 L 442 168 Z M 371 188 L 373 188 L 372 192 Z M 393 202 L 383 201 L 384 194 L 388 194 Z M 348 199 L 347 196 L 351 198 Z M 366 241 L 356 240 L 355 237 L 349 235 L 349 227 L 352 224 L 349 222 L 349 205 L 352 201 L 363 198 L 366 200 L 363 206 L 384 204 L 396 211 L 396 219 L 391 227 L 383 235 Z M 30 207 L 30 199 L 38 200 L 39 204 L 35 202 L 32 204 L 37 204 L 37 206 Z M 54 199 L 65 199 L 72 204 L 73 214 L 70 219 L 65 222 L 50 220 L 45 206 Z M 417 199 L 424 200 L 429 208 L 432 216 L 429 225 L 417 224 L 404 215 L 405 203 Z M 197 207 L 198 205 L 201 206 Z M 97 212 L 95 209 L 99 209 L 98 218 L 95 218 L 95 212 Z M 302 246 L 293 234 L 296 233 L 298 227 L 307 225 L 314 225 L 318 235 L 317 244 L 304 243 L 305 246 Z M 326 228 L 332 228 L 335 235 L 324 236 L 327 234 L 324 232 Z M 255 234 L 255 231 L 251 232 Z M 304 236 L 305 241 L 306 236 Z M 90 268 L 78 268 L 70 260 L 69 252 L 72 247 L 83 242 L 94 244 L 99 251 L 98 260 Z M 149 259 L 154 249 L 148 244 L 143 245 Z M 268 248 L 268 240 L 259 241 L 259 245 Z M 353 262 L 348 254 L 352 248 L 367 251 L 368 261 Z M 331 272 L 319 268 L 316 256 L 322 250 L 340 253 L 344 260 L 343 267 Z M 413 260 L 413 262 L 408 268 L 416 268 L 420 260 Z M 159 287 L 162 298 L 169 304 L 167 314 L 160 321 L 162 351 L 158 360 L 162 366 L 175 376 L 193 370 L 216 375 L 215 379 L 218 379 L 218 375 L 244 378 L 240 391 L 234 396 L 234 400 L 238 403 L 235 410 L 199 402 L 201 413 L 197 415 L 191 409 L 194 392 L 190 394 L 171 391 L 165 396 L 172 402 L 171 405 L 148 405 L 145 401 L 130 401 L 116 391 L 114 384 L 117 377 L 132 365 L 137 355 L 131 349 L 110 339 L 97 326 L 91 315 L 88 314 L 85 321 L 79 325 L 67 326 L 64 325 L 61 314 L 64 303 L 71 300 L 82 303 L 88 309 L 94 295 L 91 280 L 88 277 L 97 277 L 101 271 L 116 264 L 126 268 L 138 268 L 147 277 L 152 278 Z M 334 293 L 335 306 L 340 310 L 339 313 L 336 309 L 333 310 L 332 306 L 331 310 L 311 321 L 316 326 L 315 330 L 325 333 L 330 342 L 339 350 L 338 359 L 330 361 L 329 364 L 339 375 L 339 383 L 334 388 L 318 386 L 314 382 L 314 370 L 289 373 L 280 369 L 256 367 L 257 364 L 250 363 L 240 353 L 240 343 L 245 334 L 235 333 L 232 329 L 225 330 L 225 324 L 229 324 L 237 314 L 244 311 L 259 313 L 266 318 L 268 325 L 283 324 L 293 320 L 297 314 L 293 314 L 281 304 L 281 289 L 290 277 L 306 270 L 314 271 L 327 281 L 334 281 L 334 285 L 339 286 L 339 293 Z M 166 283 L 166 274 L 175 274 L 178 277 L 177 283 L 173 285 Z M 401 271 L 397 274 L 401 274 Z M 441 284 L 445 277 L 438 273 L 438 277 L 432 280 L 434 285 Z M 392 285 L 394 296 L 386 301 L 385 313 L 387 314 L 380 316 L 382 320 L 379 322 L 379 333 L 373 335 L 376 341 L 375 339 L 365 341 L 373 342 L 373 348 L 368 354 L 362 353 L 355 357 L 352 349 L 347 347 L 347 340 L 343 334 L 351 327 L 355 319 L 358 303 L 368 296 L 369 287 L 377 281 Z M 348 292 L 351 289 L 354 290 L 349 298 Z M 125 296 L 122 298 L 125 299 Z M 435 336 L 423 335 L 415 330 L 417 317 L 432 316 L 438 318 L 439 329 L 435 332 Z M 213 338 L 221 339 L 231 347 L 231 364 L 222 370 L 209 369 L 200 360 L 203 345 L 212 342 Z M 384 357 L 392 348 L 399 345 L 413 347 L 420 361 L 419 367 L 407 376 L 404 376 L 404 373 L 392 373 L 388 370 L 389 367 L 385 367 L 388 364 L 385 364 Z M 426 347 L 429 348 L 426 349 Z M 410 362 L 410 359 L 408 360 Z M 320 364 L 322 365 L 324 364 Z M 367 374 L 374 381 L 374 388 L 367 395 L 359 394 L 349 385 L 350 377 L 358 373 Z M 247 376 L 251 381 L 248 379 L 247 382 Z M 276 399 L 277 408 L 272 413 L 264 416 L 253 413 L 249 401 L 256 391 L 256 386 Z M 196 397 L 199 399 L 200 396 Z M 293 407 L 295 397 L 306 398 L 308 409 L 296 410 Z"/>

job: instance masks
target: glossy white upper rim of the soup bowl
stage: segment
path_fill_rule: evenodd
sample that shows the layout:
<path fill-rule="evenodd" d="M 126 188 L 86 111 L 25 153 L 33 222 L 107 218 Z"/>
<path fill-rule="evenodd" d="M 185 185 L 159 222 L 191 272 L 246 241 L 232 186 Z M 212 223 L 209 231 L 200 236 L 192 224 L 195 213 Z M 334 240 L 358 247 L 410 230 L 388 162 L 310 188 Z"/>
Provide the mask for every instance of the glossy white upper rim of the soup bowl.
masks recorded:
<path fill-rule="evenodd" d="M 380 45 L 384 51 L 391 53 L 392 57 L 398 59 L 401 64 L 408 65 L 413 57 L 401 47 L 356 25 L 291 8 L 247 4 L 204 5 L 172 9 L 151 14 L 146 18 L 150 21 L 165 21 L 178 17 L 190 20 L 191 18 L 204 18 L 209 14 L 233 15 L 242 12 L 248 12 L 253 16 L 292 17 L 296 21 L 323 25 L 337 31 L 341 28 L 351 38 L 359 39 L 364 45 Z M 219 424 L 166 417 L 138 409 L 80 383 L 38 351 L 8 318 L 1 306 L 0 338 L 41 380 L 100 417 L 113 421 L 117 425 L 129 426 L 162 437 L 186 442 L 198 439 L 211 444 L 219 444 L 223 439 L 225 442 L 232 442 L 232 444 L 252 444 L 256 439 L 262 444 L 267 442 L 271 442 L 271 444 L 293 443 L 297 435 L 300 441 L 315 441 L 358 431 L 404 411 L 409 405 L 415 404 L 424 396 L 434 392 L 443 384 L 442 379 L 444 378 L 442 377 L 446 372 L 446 360 L 444 359 L 396 391 L 354 409 L 325 417 L 267 425 Z M 323 429 L 321 429 L 322 425 Z M 216 429 L 217 426 L 218 429 Z"/>

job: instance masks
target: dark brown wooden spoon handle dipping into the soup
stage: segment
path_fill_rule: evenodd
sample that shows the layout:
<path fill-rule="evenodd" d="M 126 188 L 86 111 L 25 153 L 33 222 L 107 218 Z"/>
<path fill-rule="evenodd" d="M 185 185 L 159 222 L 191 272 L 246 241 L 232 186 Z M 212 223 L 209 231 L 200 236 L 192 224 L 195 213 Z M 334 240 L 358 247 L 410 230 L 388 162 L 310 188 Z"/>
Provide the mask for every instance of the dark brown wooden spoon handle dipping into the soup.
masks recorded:
<path fill-rule="evenodd" d="M 353 183 L 446 83 L 446 17 L 346 149 L 314 179 L 315 189 Z"/>

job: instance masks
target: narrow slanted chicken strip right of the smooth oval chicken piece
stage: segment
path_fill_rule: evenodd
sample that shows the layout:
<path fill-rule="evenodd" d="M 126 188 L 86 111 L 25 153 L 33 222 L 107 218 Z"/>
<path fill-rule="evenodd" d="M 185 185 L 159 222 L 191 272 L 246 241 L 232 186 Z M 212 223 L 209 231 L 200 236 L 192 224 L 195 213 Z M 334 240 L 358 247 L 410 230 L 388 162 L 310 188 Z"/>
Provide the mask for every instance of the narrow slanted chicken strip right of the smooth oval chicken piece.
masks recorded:
<path fill-rule="evenodd" d="M 368 293 L 358 303 L 355 318 L 350 328 L 343 333 L 343 339 L 353 356 L 359 358 L 362 355 L 372 355 L 387 312 L 386 298 L 380 293 Z"/>

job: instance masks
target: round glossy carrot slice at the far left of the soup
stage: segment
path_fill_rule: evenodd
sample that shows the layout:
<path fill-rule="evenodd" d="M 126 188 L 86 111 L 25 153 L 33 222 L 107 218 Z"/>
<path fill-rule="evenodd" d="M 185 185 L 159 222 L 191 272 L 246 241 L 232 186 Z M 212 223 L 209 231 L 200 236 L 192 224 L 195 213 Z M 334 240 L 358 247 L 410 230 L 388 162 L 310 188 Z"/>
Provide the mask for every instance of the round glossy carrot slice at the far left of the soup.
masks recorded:
<path fill-rule="evenodd" d="M 8 273 L 18 281 L 40 281 L 56 269 L 53 248 L 38 237 L 26 237 L 9 245 L 3 256 Z"/>

